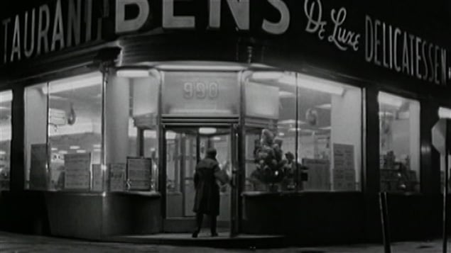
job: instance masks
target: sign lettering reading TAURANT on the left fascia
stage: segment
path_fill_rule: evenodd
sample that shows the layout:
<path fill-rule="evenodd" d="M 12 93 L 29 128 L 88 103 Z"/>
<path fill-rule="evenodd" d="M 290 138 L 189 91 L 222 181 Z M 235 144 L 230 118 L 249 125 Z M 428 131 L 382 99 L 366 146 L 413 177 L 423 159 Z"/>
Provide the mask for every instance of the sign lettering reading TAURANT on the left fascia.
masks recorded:
<path fill-rule="evenodd" d="M 100 40 L 108 1 L 56 0 L 3 19 L 3 63 Z"/>

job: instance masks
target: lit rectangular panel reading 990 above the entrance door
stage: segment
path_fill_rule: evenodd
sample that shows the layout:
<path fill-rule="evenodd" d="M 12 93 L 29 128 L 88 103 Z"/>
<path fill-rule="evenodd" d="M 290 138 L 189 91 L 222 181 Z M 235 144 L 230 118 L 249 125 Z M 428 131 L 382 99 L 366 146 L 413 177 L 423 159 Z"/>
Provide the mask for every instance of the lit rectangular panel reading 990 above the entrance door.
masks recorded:
<path fill-rule="evenodd" d="M 163 114 L 170 116 L 236 116 L 237 72 L 165 72 Z"/>

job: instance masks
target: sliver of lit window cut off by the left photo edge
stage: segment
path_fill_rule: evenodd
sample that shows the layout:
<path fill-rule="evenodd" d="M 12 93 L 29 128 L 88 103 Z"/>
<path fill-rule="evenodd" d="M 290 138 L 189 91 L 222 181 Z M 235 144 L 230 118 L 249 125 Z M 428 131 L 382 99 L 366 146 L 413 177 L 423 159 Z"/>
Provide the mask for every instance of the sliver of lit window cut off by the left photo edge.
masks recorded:
<path fill-rule="evenodd" d="M 11 174 L 11 91 L 0 92 L 0 191 L 9 190 Z"/>

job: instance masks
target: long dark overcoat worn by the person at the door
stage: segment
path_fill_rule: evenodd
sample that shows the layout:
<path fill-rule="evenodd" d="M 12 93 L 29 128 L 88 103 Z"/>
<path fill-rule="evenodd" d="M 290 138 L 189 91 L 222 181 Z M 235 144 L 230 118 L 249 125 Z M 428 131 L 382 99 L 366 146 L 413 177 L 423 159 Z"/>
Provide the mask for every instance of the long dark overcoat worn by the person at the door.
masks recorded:
<path fill-rule="evenodd" d="M 217 160 L 209 157 L 197 164 L 194 174 L 196 195 L 192 208 L 195 213 L 219 215 L 219 186 L 214 177 L 219 170 Z"/>

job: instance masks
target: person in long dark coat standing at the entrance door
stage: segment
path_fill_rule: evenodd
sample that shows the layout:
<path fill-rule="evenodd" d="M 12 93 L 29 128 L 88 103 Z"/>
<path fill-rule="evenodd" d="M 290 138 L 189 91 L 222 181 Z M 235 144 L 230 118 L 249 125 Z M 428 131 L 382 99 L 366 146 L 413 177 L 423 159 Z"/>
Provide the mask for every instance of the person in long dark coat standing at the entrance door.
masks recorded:
<path fill-rule="evenodd" d="M 216 220 L 219 215 L 219 186 L 216 182 L 215 174 L 219 172 L 219 163 L 216 159 L 217 151 L 209 148 L 204 159 L 196 166 L 194 175 L 195 201 L 194 208 L 196 213 L 197 228 L 192 233 L 192 237 L 197 237 L 202 227 L 204 215 L 210 216 L 210 230 L 212 237 L 217 236 Z"/>

